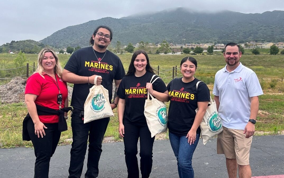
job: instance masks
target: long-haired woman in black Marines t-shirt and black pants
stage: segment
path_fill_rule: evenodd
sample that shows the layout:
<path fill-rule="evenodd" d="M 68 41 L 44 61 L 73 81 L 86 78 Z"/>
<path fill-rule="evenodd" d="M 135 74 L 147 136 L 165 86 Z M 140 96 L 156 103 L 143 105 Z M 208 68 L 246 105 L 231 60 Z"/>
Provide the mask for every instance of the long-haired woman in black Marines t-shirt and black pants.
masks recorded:
<path fill-rule="evenodd" d="M 144 115 L 147 91 L 160 101 L 168 100 L 168 90 L 163 80 L 157 79 L 153 85 L 149 83 L 154 74 L 147 53 L 144 50 L 138 50 L 134 52 L 128 72 L 122 78 L 117 92 L 119 96 L 118 130 L 124 140 L 125 162 L 129 178 L 139 177 L 136 157 L 139 137 L 142 177 L 149 177 L 152 169 L 152 151 L 155 137 L 151 138 Z"/>

